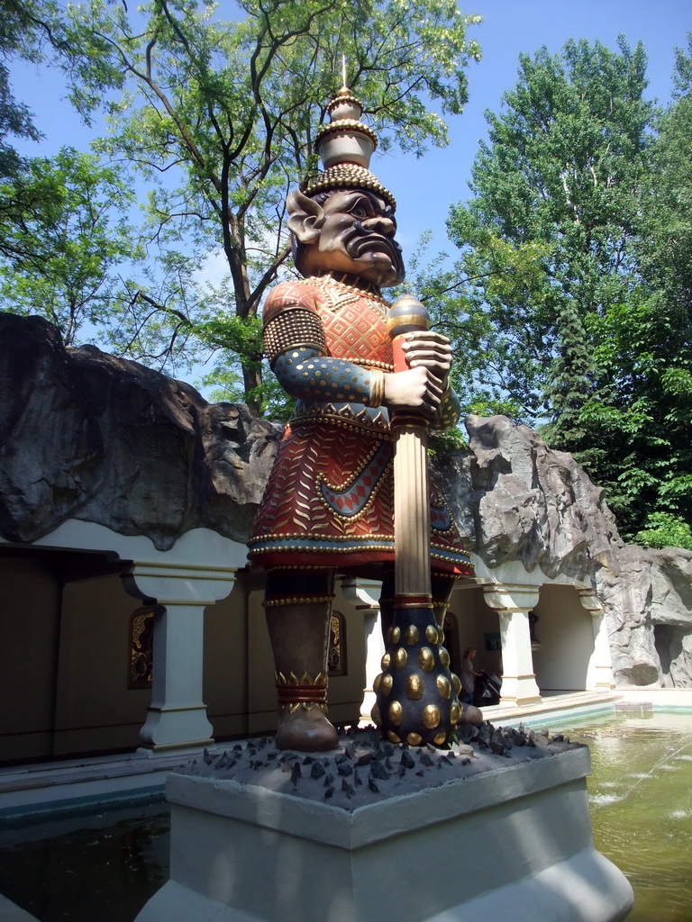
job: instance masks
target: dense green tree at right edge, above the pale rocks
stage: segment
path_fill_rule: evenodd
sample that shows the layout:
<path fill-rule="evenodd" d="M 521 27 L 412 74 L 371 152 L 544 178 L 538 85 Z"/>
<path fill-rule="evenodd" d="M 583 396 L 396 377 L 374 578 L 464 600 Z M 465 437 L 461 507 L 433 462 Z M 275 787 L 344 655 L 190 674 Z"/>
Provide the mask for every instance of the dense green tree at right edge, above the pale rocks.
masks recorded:
<path fill-rule="evenodd" d="M 650 513 L 692 523 L 691 52 L 676 53 L 674 100 L 639 195 L 638 283 L 590 323 L 598 386 L 582 420 L 628 534 Z"/>

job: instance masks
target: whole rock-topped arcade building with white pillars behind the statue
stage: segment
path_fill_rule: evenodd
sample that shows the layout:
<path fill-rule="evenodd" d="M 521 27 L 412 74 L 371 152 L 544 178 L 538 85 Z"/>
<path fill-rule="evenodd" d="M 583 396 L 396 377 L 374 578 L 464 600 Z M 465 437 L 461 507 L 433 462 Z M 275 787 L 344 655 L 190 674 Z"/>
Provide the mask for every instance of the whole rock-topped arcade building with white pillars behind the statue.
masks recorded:
<path fill-rule="evenodd" d="M 0 763 L 146 758 L 271 731 L 245 541 L 280 426 L 66 349 L 36 317 L 0 315 L 0 387 Z M 447 614 L 452 669 L 475 647 L 519 713 L 614 682 L 689 687 L 692 554 L 625 545 L 603 491 L 527 427 L 465 427 L 468 448 L 440 469 L 475 564 Z M 378 595 L 337 586 L 337 723 L 372 707 Z"/>

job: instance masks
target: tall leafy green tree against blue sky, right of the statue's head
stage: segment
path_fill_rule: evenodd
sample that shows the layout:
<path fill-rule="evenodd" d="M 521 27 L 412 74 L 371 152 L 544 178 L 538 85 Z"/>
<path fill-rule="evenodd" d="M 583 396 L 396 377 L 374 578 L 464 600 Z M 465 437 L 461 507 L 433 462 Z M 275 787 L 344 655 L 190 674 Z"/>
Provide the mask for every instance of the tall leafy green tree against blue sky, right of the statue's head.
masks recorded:
<path fill-rule="evenodd" d="M 654 112 L 645 70 L 642 46 L 622 38 L 616 52 L 570 40 L 522 54 L 502 111 L 486 113 L 474 195 L 447 222 L 497 349 L 486 380 L 572 450 L 592 387 L 586 318 L 626 298 L 635 264 Z"/>

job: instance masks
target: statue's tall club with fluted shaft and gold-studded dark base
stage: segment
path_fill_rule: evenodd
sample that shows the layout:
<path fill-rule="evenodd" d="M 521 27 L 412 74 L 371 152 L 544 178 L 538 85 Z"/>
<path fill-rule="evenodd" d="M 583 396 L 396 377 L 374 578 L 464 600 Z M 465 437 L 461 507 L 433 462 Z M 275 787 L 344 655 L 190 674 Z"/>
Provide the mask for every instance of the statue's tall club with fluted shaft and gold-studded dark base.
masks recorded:
<path fill-rule="evenodd" d="M 394 349 L 393 378 L 409 374 L 403 349 L 406 334 L 427 328 L 424 306 L 411 295 L 392 305 L 388 331 Z M 440 395 L 443 384 L 440 381 Z M 435 393 L 427 404 L 392 406 L 394 620 L 374 688 L 373 720 L 377 726 L 392 742 L 406 741 L 413 746 L 444 744 L 462 715 L 457 697 L 459 680 L 449 672 L 449 656 L 441 645 L 444 634 L 435 619 L 430 588 L 427 424 L 430 410 L 436 408 L 434 402 Z"/>

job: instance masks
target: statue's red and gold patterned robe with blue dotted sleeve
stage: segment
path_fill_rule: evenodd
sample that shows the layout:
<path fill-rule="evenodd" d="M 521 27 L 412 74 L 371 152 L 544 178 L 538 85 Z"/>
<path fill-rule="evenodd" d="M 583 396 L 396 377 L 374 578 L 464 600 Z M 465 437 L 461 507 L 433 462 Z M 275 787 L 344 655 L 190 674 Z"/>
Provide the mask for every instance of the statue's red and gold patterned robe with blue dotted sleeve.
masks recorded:
<path fill-rule="evenodd" d="M 391 372 L 387 303 L 329 277 L 286 282 L 268 296 L 265 343 L 298 398 L 264 494 L 250 556 L 266 569 L 334 568 L 377 576 L 394 561 L 393 443 L 381 406 Z M 441 422 L 456 421 L 447 405 Z M 431 566 L 472 572 L 431 479 Z"/>

